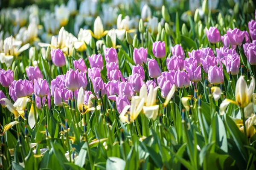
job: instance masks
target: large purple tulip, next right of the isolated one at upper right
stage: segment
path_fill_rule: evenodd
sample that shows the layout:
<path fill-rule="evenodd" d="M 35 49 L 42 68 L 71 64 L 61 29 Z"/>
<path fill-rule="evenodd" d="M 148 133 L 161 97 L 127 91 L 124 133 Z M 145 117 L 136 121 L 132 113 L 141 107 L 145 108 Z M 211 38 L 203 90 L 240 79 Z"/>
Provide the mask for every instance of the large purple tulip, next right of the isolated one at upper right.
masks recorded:
<path fill-rule="evenodd" d="M 231 45 L 240 45 L 243 42 L 243 36 L 240 29 L 234 28 L 233 30 L 229 28 L 227 31 L 227 37 L 230 40 Z"/>

